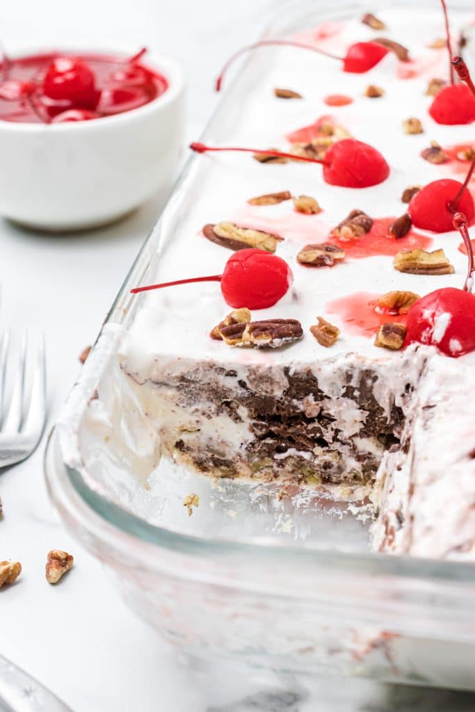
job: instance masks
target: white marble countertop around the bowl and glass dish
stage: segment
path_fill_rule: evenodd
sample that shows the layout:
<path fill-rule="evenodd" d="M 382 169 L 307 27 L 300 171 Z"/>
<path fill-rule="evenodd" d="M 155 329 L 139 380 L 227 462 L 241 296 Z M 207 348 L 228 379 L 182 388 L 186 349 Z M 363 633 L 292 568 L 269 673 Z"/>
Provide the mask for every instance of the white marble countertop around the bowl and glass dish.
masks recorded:
<path fill-rule="evenodd" d="M 271 0 L 62 0 L 9 4 L 2 40 L 61 45 L 58 38 L 136 43 L 168 53 L 189 79 L 189 138 L 216 98 L 212 78 L 230 48 L 252 40 Z M 48 349 L 48 424 L 54 421 L 128 266 L 154 224 L 157 197 L 120 224 L 90 234 L 35 234 L 0 221 L 0 329 L 41 330 Z M 0 559 L 21 561 L 19 582 L 0 591 L 0 654 L 22 666 L 75 712 L 310 712 L 473 710 L 475 697 L 374 684 L 244 673 L 189 659 L 128 611 L 102 568 L 63 529 L 43 480 L 44 442 L 26 462 L 0 471 Z M 75 556 L 60 586 L 44 578 L 46 553 Z"/>

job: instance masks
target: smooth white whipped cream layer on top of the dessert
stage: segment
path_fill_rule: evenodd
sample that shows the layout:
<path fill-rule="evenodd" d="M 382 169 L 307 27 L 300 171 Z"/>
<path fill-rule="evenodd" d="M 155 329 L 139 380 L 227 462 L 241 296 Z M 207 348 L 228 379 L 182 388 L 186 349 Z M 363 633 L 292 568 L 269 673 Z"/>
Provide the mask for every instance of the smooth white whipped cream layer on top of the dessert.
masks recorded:
<path fill-rule="evenodd" d="M 447 276 L 397 272 L 391 256 L 347 258 L 333 268 L 306 268 L 296 261 L 298 251 L 305 244 L 325 241 L 330 230 L 350 210 L 361 209 L 373 218 L 400 216 L 407 209 L 401 201 L 405 188 L 441 177 L 463 180 L 468 167 L 466 162 L 456 160 L 435 165 L 420 156 L 431 141 L 447 146 L 471 144 L 475 140 L 473 126 L 439 125 L 428 113 L 432 102 L 432 97 L 425 95 L 429 80 L 447 79 L 449 73 L 446 49 L 429 47 L 435 39 L 444 37 L 442 12 L 437 4 L 431 10 L 386 9 L 380 13 L 380 19 L 387 24 L 385 31 L 375 33 L 357 17 L 325 23 L 298 38 L 343 55 L 351 43 L 384 35 L 404 43 L 409 48 L 411 61 L 401 63 L 390 52 L 369 72 L 350 74 L 343 72 L 341 62 L 315 53 L 297 48 L 263 48 L 251 65 L 254 72 L 248 70 L 239 78 L 241 90 L 243 84 L 246 90 L 246 104 L 229 107 L 229 101 L 226 103 L 232 120 L 224 121 L 219 136 L 212 142 L 288 150 L 286 135 L 312 124 L 322 115 L 330 115 L 353 137 L 382 152 L 390 164 L 390 177 L 375 187 L 348 189 L 325 184 L 322 169 L 317 164 L 260 164 L 245 154 L 200 155 L 194 161 L 188 181 L 198 185 L 199 191 L 194 188 L 189 194 L 175 224 L 169 224 L 165 216 L 165 235 L 157 256 L 157 269 L 147 275 L 147 282 L 154 283 L 221 273 L 231 251 L 205 239 L 201 233 L 204 224 L 235 221 L 242 226 L 275 232 L 284 239 L 278 244 L 276 254 L 291 266 L 293 287 L 272 308 L 254 311 L 252 318 L 298 319 L 303 326 L 303 339 L 272 352 L 232 349 L 209 337 L 210 330 L 231 311 L 219 284 L 179 286 L 140 297 L 144 303 L 137 310 L 121 347 L 127 370 L 135 374 L 147 372 L 155 357 L 162 353 L 217 362 L 234 360 L 243 365 L 311 362 L 348 352 L 375 359 L 397 358 L 397 353 L 375 347 L 373 336 L 351 333 L 338 315 L 328 313 L 328 302 L 362 290 L 375 294 L 410 290 L 424 295 L 444 286 L 461 287 L 466 256 L 458 251 L 461 239 L 455 231 L 430 234 L 433 243 L 429 249 L 444 248 L 455 268 L 455 273 Z M 451 12 L 453 37 L 468 23 L 468 13 Z M 325 34 L 330 36 L 320 39 Z M 315 41 L 315 38 L 318 39 Z M 466 61 L 469 62 L 467 48 Z M 365 88 L 370 84 L 380 86 L 385 94 L 376 99 L 365 97 Z M 276 98 L 273 93 L 276 87 L 296 90 L 303 99 Z M 333 93 L 348 95 L 353 103 L 328 107 L 324 98 Z M 404 133 L 402 122 L 409 117 L 419 118 L 424 129 L 422 134 Z M 251 206 L 246 202 L 256 195 L 281 190 L 313 196 L 323 211 L 318 215 L 299 214 L 291 201 L 272 206 Z M 403 240 L 401 248 L 404 248 Z M 320 346 L 308 331 L 317 315 L 341 329 L 340 338 L 331 349 Z M 441 330 L 442 327 L 441 323 Z"/>

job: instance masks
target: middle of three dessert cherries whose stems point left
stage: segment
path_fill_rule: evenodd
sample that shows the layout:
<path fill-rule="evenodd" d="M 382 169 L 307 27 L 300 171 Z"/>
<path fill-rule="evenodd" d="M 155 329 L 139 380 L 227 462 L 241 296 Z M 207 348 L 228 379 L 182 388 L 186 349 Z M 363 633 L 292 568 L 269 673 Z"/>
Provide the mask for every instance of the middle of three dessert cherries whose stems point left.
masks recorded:
<path fill-rule="evenodd" d="M 263 153 L 269 156 L 320 163 L 323 165 L 323 179 L 330 185 L 344 188 L 368 188 L 382 183 L 390 174 L 385 157 L 372 146 L 354 138 L 345 138 L 334 143 L 323 159 L 296 156 L 283 151 L 262 150 L 255 148 L 206 146 L 203 143 L 192 143 L 190 148 L 198 153 L 211 151 L 238 151 L 246 153 Z"/>

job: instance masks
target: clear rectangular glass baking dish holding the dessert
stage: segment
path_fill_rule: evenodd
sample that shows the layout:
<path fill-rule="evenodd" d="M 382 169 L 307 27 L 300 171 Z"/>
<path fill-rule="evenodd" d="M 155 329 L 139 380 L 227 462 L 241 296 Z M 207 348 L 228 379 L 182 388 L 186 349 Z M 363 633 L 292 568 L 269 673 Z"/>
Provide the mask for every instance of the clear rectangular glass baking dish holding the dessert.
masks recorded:
<path fill-rule="evenodd" d="M 466 7 L 459 2 L 451 10 Z M 360 1 L 292 2 L 264 37 L 288 37 L 367 9 Z M 273 51 L 246 61 L 204 140 L 223 142 Z M 117 358 L 142 304 L 130 288 L 152 279 L 183 206 L 199 199 L 205 170 L 199 157 L 189 159 L 48 441 L 46 478 L 58 511 L 130 607 L 192 654 L 278 671 L 475 689 L 473 565 L 369 553 L 367 529 L 347 508 L 311 493 L 276 505 L 272 486 L 216 486 L 163 460 L 155 468 L 156 443 L 137 443 L 142 414 L 122 387 Z M 107 444 L 100 417 L 95 430 L 83 422 L 105 383 L 114 398 L 103 415 L 120 414 Z M 199 508 L 187 517 L 190 492 L 199 494 Z"/>

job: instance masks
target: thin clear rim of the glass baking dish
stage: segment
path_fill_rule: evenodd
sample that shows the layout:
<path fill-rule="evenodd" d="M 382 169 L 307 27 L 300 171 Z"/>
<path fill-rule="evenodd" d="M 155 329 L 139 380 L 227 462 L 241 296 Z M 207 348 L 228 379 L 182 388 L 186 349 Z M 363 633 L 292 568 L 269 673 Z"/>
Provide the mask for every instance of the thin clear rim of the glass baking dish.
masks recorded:
<path fill-rule="evenodd" d="M 395 0 L 393 4 L 411 4 L 410 0 Z M 427 3 L 428 4 L 428 3 Z M 335 4 L 333 7 L 320 8 L 318 9 L 318 16 L 324 19 L 325 15 L 330 17 L 335 17 L 335 10 L 338 8 Z M 298 8 L 301 6 L 306 6 L 306 0 L 299 0 L 295 2 L 289 0 L 286 3 L 288 8 L 291 8 L 293 12 L 298 12 Z M 357 8 L 365 7 L 363 0 L 339 0 L 338 6 L 342 6 L 345 11 L 355 10 Z M 460 1 L 456 3 L 458 7 L 465 7 L 465 3 Z M 276 36 L 278 34 L 278 17 L 285 15 L 282 12 L 282 8 L 279 9 L 279 15 L 275 14 L 273 21 L 268 24 L 266 29 L 261 33 L 261 38 L 266 38 L 268 36 Z M 212 134 L 212 128 L 214 123 L 219 120 L 219 115 L 226 108 L 226 103 L 233 100 L 233 87 L 236 81 L 239 80 L 241 74 L 245 68 L 248 68 L 252 61 L 253 56 L 249 56 L 241 66 L 241 70 L 236 72 L 234 78 L 229 80 L 226 85 L 226 89 L 223 92 L 223 97 L 216 105 L 216 108 L 212 112 L 207 125 L 204 127 L 200 141 L 206 142 L 207 137 Z M 174 201 L 174 196 L 179 192 L 179 189 L 187 181 L 189 174 L 192 172 L 192 167 L 194 162 L 199 160 L 198 155 L 190 155 L 187 161 L 184 163 L 182 171 L 174 184 L 170 198 L 167 201 L 165 209 L 159 216 L 155 226 L 152 228 L 147 238 L 145 239 L 142 247 L 140 248 L 137 257 L 132 262 L 127 275 L 125 276 L 118 294 L 113 301 L 113 304 L 105 318 L 103 326 L 100 330 L 98 338 L 95 341 L 93 350 L 97 348 L 98 340 L 101 335 L 103 335 L 105 328 L 108 325 L 125 325 L 127 323 L 127 318 L 130 315 L 130 307 L 132 304 L 132 297 L 130 295 L 130 288 L 132 286 L 137 286 L 141 283 L 142 278 L 147 273 L 148 268 L 150 268 L 150 261 L 152 255 L 155 253 L 157 246 L 160 244 L 160 231 L 162 229 L 162 224 L 167 219 L 167 214 L 172 211 L 172 203 Z M 155 236 L 157 237 L 155 241 Z M 150 252 L 150 254 L 149 254 Z M 136 298 L 135 298 L 136 299 Z M 140 304 L 140 300 L 137 300 L 137 308 Z M 88 360 L 89 361 L 89 360 Z M 97 376 L 101 374 L 96 374 Z M 80 393 L 80 400 L 83 404 L 88 401 L 90 395 L 92 394 L 94 388 L 90 386 L 90 377 L 88 379 L 88 362 L 86 362 L 85 367 L 83 367 L 83 372 L 81 372 L 78 381 L 75 383 L 73 391 Z M 67 419 L 63 422 L 67 424 Z M 70 419 L 69 427 L 70 434 L 73 430 L 73 420 Z M 51 454 L 51 449 L 56 444 L 56 439 L 58 439 L 58 446 L 61 450 L 61 437 L 63 428 L 55 427 L 52 434 L 48 439 L 48 444 L 46 446 L 46 458 L 48 458 L 48 453 Z M 365 572 L 365 575 L 370 576 L 391 576 L 401 578 L 402 580 L 427 580 L 434 581 L 440 580 L 446 583 L 453 582 L 465 582 L 468 584 L 475 583 L 475 567 L 469 562 L 457 562 L 457 561 L 447 561 L 447 560 L 437 560 L 422 557 L 409 557 L 407 555 L 387 555 L 382 553 L 375 553 L 368 550 L 365 553 L 360 552 L 348 552 L 344 550 L 336 549 L 323 549 L 319 548 L 315 543 L 299 543 L 295 545 L 292 541 L 290 543 L 283 542 L 281 540 L 269 540 L 269 538 L 242 538 L 236 540 L 229 540 L 226 538 L 211 538 L 199 535 L 189 535 L 180 533 L 178 531 L 163 528 L 157 525 L 152 525 L 147 523 L 140 517 L 130 513 L 125 508 L 122 508 L 118 504 L 110 501 L 107 497 L 101 495 L 100 493 L 93 490 L 88 486 L 85 481 L 81 469 L 83 469 L 80 461 L 75 463 L 75 466 L 66 463 L 62 458 L 62 466 L 64 474 L 68 480 L 68 484 L 71 485 L 75 494 L 77 494 L 82 501 L 82 503 L 87 506 L 90 511 L 97 515 L 101 520 L 103 520 L 108 525 L 120 531 L 129 537 L 137 540 L 137 543 L 144 543 L 148 545 L 156 545 L 159 548 L 165 548 L 174 553 L 184 553 L 184 554 L 206 554 L 206 555 L 228 555 L 232 556 L 235 553 L 239 554 L 249 554 L 249 556 L 256 556 L 259 559 L 261 557 L 281 557 L 285 558 L 288 562 L 295 562 L 296 559 L 299 562 L 303 562 L 306 565 L 313 567 L 315 570 L 320 565 L 321 567 L 330 567 L 333 570 L 340 570 L 341 572 L 348 573 L 350 570 L 361 570 Z M 58 467 L 56 462 L 55 467 Z M 46 477 L 49 480 L 51 474 L 48 473 L 48 466 L 45 465 Z M 58 471 L 55 473 L 58 474 Z M 119 543 L 116 543 L 119 546 Z M 269 558 L 269 560 L 270 560 Z M 288 568 L 283 566 L 283 570 L 288 570 Z"/>

